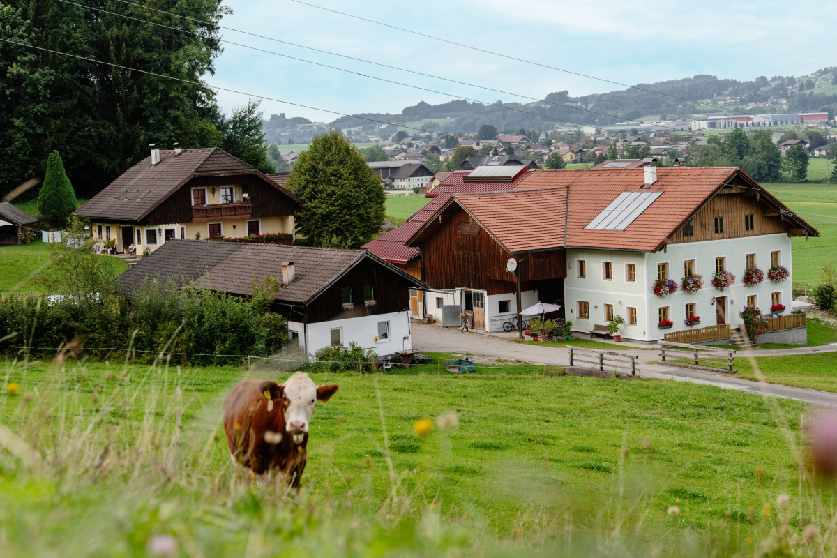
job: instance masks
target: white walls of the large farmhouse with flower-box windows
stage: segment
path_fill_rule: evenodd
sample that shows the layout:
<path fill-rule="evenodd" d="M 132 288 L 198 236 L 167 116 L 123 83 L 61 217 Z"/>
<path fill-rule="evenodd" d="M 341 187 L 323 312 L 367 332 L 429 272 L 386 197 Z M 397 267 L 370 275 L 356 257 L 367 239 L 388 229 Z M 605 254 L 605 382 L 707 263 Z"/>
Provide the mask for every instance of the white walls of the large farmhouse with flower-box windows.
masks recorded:
<path fill-rule="evenodd" d="M 686 320 L 686 304 L 695 303 L 696 313 L 701 323 L 695 328 L 716 325 L 716 305 L 712 299 L 719 296 L 727 297 L 727 323 L 736 328 L 742 320 L 738 312 L 747 304 L 747 295 L 757 295 L 757 305 L 763 314 L 770 312 L 771 294 L 781 293 L 782 304 L 788 307 L 788 313 L 793 302 L 793 276 L 784 283 L 773 284 L 767 279 L 770 269 L 770 253 L 780 252 L 780 264 L 793 269 L 790 238 L 784 233 L 769 234 L 747 238 L 729 238 L 712 240 L 701 243 L 672 244 L 665 252 L 631 253 L 608 250 L 567 250 L 567 279 L 565 281 L 565 299 L 567 301 L 567 320 L 573 320 L 573 330 L 589 331 L 593 325 L 607 324 L 604 315 L 604 305 L 614 305 L 614 315 L 621 315 L 625 323 L 619 333 L 629 339 L 655 341 L 664 338 L 665 333 L 671 331 L 689 330 L 683 323 Z M 747 265 L 747 254 L 756 254 L 756 265 L 765 273 L 762 284 L 747 287 L 743 283 L 744 270 Z M 711 284 L 711 276 L 715 272 L 716 257 L 727 259 L 727 270 L 735 275 L 735 283 L 721 293 Z M 587 278 L 578 278 L 578 259 L 587 264 Z M 689 294 L 678 289 L 675 294 L 665 298 L 655 296 L 651 292 L 657 277 L 657 264 L 669 264 L 669 277 L 678 285 L 683 280 L 683 266 L 686 260 L 695 260 L 695 273 L 703 276 L 703 289 L 695 294 Z M 613 264 L 613 279 L 603 279 L 603 261 Z M 636 281 L 628 283 L 625 280 L 625 264 L 633 263 L 636 269 Z M 578 301 L 585 300 L 589 304 L 590 319 L 578 319 Z M 660 306 L 669 307 L 669 319 L 675 325 L 670 329 L 660 330 L 657 326 L 658 310 Z M 628 308 L 637 309 L 637 325 L 628 324 Z"/>

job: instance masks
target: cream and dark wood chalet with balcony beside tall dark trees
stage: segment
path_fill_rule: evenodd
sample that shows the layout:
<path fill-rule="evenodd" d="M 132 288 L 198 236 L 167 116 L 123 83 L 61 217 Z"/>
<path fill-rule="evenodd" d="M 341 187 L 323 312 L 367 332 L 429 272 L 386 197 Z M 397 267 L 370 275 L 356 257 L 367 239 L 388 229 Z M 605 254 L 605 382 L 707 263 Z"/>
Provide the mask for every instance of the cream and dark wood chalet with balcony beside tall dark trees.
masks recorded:
<path fill-rule="evenodd" d="M 131 166 L 85 203 L 94 238 L 116 251 L 153 252 L 174 238 L 294 234 L 300 199 L 253 166 L 212 147 L 163 151 Z"/>

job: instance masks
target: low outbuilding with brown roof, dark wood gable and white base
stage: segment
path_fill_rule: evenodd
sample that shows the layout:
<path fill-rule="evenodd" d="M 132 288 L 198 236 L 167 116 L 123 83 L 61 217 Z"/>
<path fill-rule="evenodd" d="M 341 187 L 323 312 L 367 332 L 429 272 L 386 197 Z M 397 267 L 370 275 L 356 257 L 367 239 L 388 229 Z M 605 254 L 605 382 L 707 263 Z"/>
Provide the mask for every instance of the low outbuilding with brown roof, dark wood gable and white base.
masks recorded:
<path fill-rule="evenodd" d="M 249 297 L 265 276 L 280 281 L 271 310 L 285 317 L 290 343 L 306 353 L 352 342 L 382 356 L 412 347 L 408 292 L 427 285 L 367 250 L 176 238 L 120 281 L 129 295 L 159 278 Z"/>

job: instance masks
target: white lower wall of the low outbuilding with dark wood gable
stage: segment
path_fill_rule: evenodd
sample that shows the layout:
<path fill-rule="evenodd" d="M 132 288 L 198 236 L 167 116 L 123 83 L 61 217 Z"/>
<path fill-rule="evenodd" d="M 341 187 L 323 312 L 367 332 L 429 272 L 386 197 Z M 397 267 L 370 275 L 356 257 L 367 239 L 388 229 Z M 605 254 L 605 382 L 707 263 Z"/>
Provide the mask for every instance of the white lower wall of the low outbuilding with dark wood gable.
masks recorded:
<path fill-rule="evenodd" d="M 407 351 L 413 348 L 409 315 L 409 311 L 392 312 L 390 314 L 360 316 L 347 320 L 321 321 L 308 324 L 308 352 L 313 354 L 323 347 L 330 346 L 331 330 L 334 329 L 341 330 L 343 346 L 348 346 L 354 341 L 364 349 L 374 349 L 378 355 Z M 389 322 L 389 340 L 375 340 L 379 321 Z M 300 331 L 300 345 L 304 345 L 304 342 L 301 341 L 303 339 L 303 324 L 289 321 L 288 329 Z"/>

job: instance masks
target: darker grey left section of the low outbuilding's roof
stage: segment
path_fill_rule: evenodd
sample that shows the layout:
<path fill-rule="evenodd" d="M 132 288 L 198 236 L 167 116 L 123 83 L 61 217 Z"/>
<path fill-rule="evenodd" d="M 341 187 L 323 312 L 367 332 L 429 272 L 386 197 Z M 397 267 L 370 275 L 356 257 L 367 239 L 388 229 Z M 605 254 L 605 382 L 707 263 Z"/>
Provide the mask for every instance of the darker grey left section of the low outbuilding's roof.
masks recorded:
<path fill-rule="evenodd" d="M 200 248 L 196 249 L 198 244 Z M 171 277 L 177 286 L 181 287 L 184 282 L 198 279 L 208 269 L 213 269 L 243 247 L 244 244 L 239 243 L 172 239 L 121 274 L 119 279 L 122 288 L 129 294 L 139 288 L 146 279 L 153 280 L 157 277 L 161 281 Z"/>

